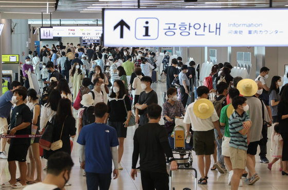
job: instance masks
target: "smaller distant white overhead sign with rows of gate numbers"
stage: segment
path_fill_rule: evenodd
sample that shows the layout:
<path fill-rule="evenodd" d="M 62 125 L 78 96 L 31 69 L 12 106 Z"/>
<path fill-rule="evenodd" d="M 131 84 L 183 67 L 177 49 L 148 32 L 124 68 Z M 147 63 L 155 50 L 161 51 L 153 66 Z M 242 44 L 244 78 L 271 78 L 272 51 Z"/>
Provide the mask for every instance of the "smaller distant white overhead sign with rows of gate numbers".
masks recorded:
<path fill-rule="evenodd" d="M 101 26 L 53 26 L 53 37 L 101 37 Z"/>

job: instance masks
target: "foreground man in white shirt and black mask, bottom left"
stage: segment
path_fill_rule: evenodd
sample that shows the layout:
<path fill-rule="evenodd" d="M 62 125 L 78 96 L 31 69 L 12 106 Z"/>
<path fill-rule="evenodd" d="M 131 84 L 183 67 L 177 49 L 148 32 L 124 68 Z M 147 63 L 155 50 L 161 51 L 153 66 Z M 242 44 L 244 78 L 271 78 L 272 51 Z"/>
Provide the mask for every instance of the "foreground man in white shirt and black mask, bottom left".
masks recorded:
<path fill-rule="evenodd" d="M 47 162 L 47 176 L 39 183 L 26 186 L 23 190 L 56 190 L 64 189 L 69 181 L 71 169 L 74 163 L 66 152 L 53 153 Z"/>

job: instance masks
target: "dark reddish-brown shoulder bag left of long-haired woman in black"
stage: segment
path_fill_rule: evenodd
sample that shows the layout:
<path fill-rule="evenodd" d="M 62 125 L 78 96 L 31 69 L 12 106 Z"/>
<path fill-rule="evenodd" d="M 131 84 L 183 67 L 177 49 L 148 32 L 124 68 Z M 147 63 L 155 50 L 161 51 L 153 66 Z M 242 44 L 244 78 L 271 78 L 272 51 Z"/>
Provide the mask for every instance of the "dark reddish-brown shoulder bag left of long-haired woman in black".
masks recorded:
<path fill-rule="evenodd" d="M 51 122 L 49 122 L 49 118 L 52 117 L 54 112 L 51 113 L 51 115 L 46 119 L 46 126 L 45 130 L 40 138 L 39 145 L 45 149 L 50 150 L 51 142 L 53 138 L 53 127 L 54 127 L 54 118 L 52 118 Z"/>

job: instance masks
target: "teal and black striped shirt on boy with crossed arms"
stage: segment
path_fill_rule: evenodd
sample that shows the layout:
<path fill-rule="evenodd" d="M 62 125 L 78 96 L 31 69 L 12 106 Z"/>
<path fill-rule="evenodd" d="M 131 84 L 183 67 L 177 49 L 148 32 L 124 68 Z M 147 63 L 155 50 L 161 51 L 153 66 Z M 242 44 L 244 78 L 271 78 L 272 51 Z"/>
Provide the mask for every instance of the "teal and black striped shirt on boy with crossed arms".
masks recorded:
<path fill-rule="evenodd" d="M 243 112 L 243 115 L 239 115 L 236 111 L 232 113 L 229 118 L 229 131 L 230 131 L 230 142 L 229 146 L 233 148 L 239 148 L 242 150 L 247 150 L 247 134 L 242 135 L 239 133 L 243 127 L 243 122 L 250 120 L 249 115 L 246 112 Z"/>

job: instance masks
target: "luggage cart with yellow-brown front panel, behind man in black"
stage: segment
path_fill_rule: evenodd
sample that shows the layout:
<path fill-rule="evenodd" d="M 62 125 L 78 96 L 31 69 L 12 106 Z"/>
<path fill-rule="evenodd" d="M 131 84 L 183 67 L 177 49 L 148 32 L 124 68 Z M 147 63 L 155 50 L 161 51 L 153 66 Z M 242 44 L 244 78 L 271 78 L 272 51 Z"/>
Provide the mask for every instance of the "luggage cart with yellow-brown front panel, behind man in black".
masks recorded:
<path fill-rule="evenodd" d="M 186 149 L 185 130 L 181 126 L 176 126 L 174 128 L 174 149 L 172 149 L 172 153 L 184 156 L 183 158 L 175 158 L 178 165 L 184 165 L 185 167 L 192 166 L 192 148 Z M 187 154 L 188 156 L 186 157 Z"/>

